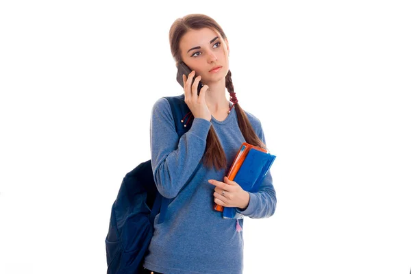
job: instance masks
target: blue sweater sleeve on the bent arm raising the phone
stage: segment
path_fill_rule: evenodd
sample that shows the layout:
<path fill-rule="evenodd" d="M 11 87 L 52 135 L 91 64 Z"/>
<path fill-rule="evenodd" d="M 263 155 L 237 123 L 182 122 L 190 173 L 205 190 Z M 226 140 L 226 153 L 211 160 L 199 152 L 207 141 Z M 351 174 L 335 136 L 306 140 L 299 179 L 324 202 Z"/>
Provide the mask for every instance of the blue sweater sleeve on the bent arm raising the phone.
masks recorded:
<path fill-rule="evenodd" d="M 154 182 L 160 194 L 174 198 L 190 178 L 206 150 L 206 139 L 211 123 L 195 118 L 181 138 L 169 101 L 158 99 L 151 111 L 150 145 Z"/>

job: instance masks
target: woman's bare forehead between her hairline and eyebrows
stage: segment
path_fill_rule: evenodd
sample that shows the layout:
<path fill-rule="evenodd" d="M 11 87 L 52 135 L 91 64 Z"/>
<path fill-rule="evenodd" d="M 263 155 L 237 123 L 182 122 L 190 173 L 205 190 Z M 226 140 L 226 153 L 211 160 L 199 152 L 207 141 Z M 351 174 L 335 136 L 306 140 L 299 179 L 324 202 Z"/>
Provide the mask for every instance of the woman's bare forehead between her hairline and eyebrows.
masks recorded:
<path fill-rule="evenodd" d="M 209 29 L 205 27 L 203 29 L 190 29 L 180 40 L 180 49 L 188 50 L 192 47 L 209 45 L 212 38 L 219 36 L 219 33 L 214 29 Z"/>

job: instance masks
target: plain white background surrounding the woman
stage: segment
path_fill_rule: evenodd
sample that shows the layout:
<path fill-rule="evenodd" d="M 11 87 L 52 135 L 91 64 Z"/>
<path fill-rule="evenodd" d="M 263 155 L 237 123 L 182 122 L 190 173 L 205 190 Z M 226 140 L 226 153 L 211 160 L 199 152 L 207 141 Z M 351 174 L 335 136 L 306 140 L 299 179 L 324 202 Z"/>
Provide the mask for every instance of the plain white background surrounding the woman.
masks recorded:
<path fill-rule="evenodd" d="M 151 107 L 182 93 L 168 33 L 190 13 L 225 30 L 277 155 L 244 273 L 410 273 L 410 3 L 145 2 L 1 1 L 0 273 L 105 273 Z"/>

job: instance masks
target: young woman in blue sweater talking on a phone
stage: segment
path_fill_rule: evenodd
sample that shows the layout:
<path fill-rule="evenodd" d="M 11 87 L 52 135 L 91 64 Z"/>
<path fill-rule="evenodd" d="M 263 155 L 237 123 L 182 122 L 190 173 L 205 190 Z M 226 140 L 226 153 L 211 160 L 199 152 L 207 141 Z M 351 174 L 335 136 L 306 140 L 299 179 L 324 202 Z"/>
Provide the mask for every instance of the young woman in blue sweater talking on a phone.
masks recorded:
<path fill-rule="evenodd" d="M 242 273 L 243 219 L 224 219 L 213 205 L 236 208 L 251 218 L 274 214 L 277 199 L 270 173 L 253 193 L 225 177 L 242 142 L 265 147 L 262 126 L 236 99 L 229 43 L 216 21 L 203 14 L 178 18 L 169 40 L 176 63 L 192 69 L 183 76 L 184 101 L 191 113 L 182 117 L 191 127 L 179 139 L 168 101 L 162 98 L 153 105 L 155 184 L 164 197 L 175 199 L 164 222 L 155 219 L 144 267 L 147 273 Z M 200 80 L 204 86 L 197 95 Z"/>

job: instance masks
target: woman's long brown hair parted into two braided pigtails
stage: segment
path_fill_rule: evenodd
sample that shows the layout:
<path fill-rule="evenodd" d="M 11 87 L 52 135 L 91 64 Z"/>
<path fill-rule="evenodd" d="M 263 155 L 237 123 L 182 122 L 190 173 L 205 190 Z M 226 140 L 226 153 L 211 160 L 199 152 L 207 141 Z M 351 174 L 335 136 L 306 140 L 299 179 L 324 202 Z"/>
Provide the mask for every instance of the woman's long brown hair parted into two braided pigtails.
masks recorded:
<path fill-rule="evenodd" d="M 179 42 L 184 34 L 186 34 L 186 32 L 188 32 L 190 29 L 202 29 L 204 27 L 208 27 L 210 29 L 214 29 L 216 32 L 219 32 L 223 39 L 227 38 L 220 25 L 216 23 L 216 21 L 214 21 L 214 19 L 212 19 L 210 16 L 204 14 L 188 14 L 182 18 L 177 18 L 177 20 L 174 21 L 173 25 L 171 25 L 170 28 L 169 41 L 171 54 L 173 55 L 176 64 L 182 61 Z M 231 71 L 228 71 L 227 75 L 225 76 L 225 87 L 230 94 L 234 92 L 234 86 L 231 76 Z M 238 127 L 240 127 L 240 131 L 242 133 L 242 136 L 244 136 L 245 141 L 251 145 L 265 148 L 262 140 L 260 140 L 256 132 L 254 132 L 253 127 L 251 126 L 251 123 L 244 110 L 242 110 L 238 103 L 234 105 L 234 108 L 236 108 Z M 213 166 L 215 169 L 227 168 L 227 158 L 225 157 L 223 147 L 221 147 L 219 138 L 217 137 L 216 132 L 212 126 L 210 127 L 210 131 L 208 132 L 207 136 L 206 152 L 203 155 L 203 163 L 210 169 Z"/>

